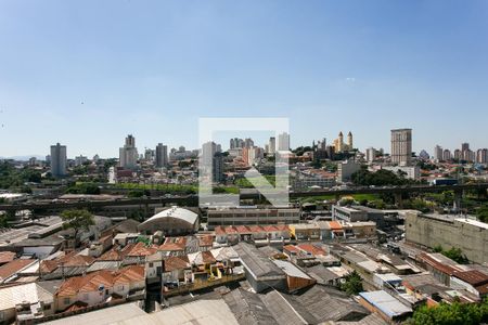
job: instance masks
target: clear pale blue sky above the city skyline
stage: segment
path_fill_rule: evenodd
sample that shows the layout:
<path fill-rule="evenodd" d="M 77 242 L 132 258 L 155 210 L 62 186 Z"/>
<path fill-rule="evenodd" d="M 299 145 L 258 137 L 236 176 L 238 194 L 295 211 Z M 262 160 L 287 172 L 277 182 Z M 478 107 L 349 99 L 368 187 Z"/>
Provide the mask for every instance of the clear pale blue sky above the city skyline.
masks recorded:
<path fill-rule="evenodd" d="M 418 152 L 487 147 L 487 90 L 483 0 L 0 0 L 0 156 L 193 147 L 200 117 L 288 117 L 292 146 L 389 151 L 410 127 Z"/>

